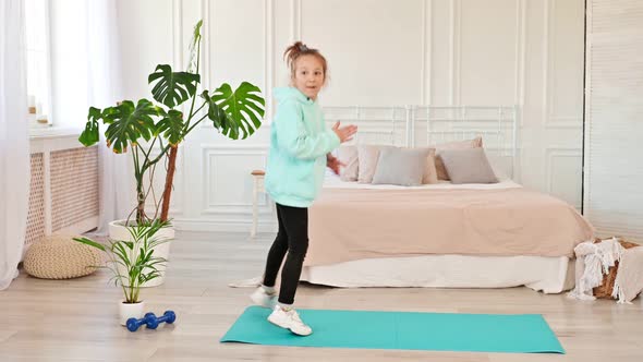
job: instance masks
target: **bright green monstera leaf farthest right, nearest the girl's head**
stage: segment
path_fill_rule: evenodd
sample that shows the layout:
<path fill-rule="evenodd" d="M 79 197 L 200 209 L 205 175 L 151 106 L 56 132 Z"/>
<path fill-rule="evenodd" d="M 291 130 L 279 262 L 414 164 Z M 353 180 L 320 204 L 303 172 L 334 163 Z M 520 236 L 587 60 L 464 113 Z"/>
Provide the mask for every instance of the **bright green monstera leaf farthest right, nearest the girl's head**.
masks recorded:
<path fill-rule="evenodd" d="M 211 97 L 207 90 L 202 97 L 208 102 L 208 118 L 215 128 L 226 136 L 238 140 L 246 138 L 262 125 L 265 100 L 258 94 L 260 89 L 243 82 L 232 92 L 229 84 L 218 87 Z"/>

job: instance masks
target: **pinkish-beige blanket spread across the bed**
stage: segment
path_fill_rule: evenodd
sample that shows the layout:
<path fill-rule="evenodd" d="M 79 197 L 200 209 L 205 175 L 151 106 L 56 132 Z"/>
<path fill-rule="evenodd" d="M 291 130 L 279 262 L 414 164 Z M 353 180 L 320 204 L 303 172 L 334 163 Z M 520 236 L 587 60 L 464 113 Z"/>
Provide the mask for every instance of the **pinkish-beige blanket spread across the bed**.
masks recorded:
<path fill-rule="evenodd" d="M 524 188 L 324 189 L 310 208 L 304 265 L 424 254 L 573 256 L 594 228 Z"/>

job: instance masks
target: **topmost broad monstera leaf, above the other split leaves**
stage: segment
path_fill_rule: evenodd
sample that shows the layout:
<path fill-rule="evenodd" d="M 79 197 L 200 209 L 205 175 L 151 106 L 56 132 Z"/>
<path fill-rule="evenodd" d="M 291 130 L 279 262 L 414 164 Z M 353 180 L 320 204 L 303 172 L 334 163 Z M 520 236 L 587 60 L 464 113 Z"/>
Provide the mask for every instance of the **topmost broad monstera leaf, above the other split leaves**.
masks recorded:
<path fill-rule="evenodd" d="M 147 77 L 149 84 L 157 82 L 151 94 L 154 99 L 174 108 L 190 99 L 196 93 L 196 85 L 201 82 L 201 75 L 187 72 L 172 72 L 168 64 L 159 64 L 154 73 Z"/>

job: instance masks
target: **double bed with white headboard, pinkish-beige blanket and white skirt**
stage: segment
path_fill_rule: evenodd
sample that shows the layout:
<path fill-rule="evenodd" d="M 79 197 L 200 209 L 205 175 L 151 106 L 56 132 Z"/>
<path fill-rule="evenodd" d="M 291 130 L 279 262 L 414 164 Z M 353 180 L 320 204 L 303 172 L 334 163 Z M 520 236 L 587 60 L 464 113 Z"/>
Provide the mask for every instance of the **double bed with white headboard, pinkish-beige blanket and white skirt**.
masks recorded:
<path fill-rule="evenodd" d="M 371 184 L 327 173 L 310 208 L 301 280 L 333 287 L 573 288 L 573 249 L 593 227 L 520 184 L 514 107 L 326 109 L 355 144 L 422 147 L 482 137 L 495 183 Z"/>

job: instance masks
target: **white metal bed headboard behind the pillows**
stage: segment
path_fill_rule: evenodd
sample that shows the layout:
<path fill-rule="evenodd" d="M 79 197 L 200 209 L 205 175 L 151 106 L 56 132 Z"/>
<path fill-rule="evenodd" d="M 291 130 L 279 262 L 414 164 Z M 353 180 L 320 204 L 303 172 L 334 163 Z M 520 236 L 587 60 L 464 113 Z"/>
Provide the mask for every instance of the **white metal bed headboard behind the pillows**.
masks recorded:
<path fill-rule="evenodd" d="M 353 144 L 418 147 L 481 136 L 494 168 L 519 176 L 517 106 L 324 107 L 324 113 L 329 126 L 359 126 Z"/>

